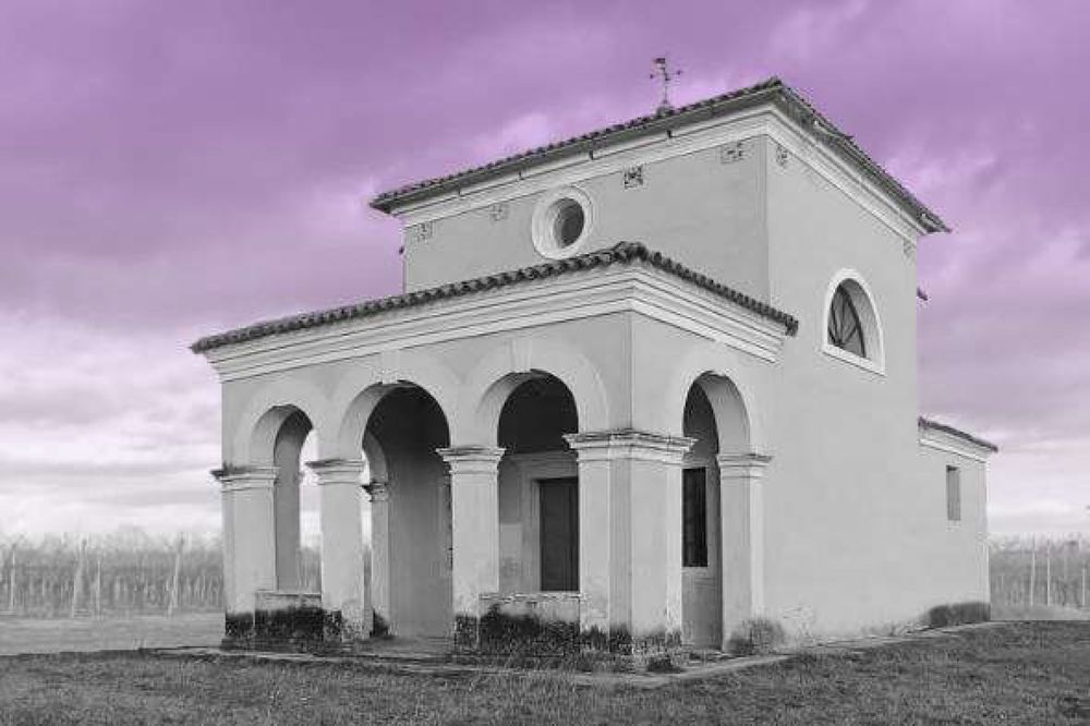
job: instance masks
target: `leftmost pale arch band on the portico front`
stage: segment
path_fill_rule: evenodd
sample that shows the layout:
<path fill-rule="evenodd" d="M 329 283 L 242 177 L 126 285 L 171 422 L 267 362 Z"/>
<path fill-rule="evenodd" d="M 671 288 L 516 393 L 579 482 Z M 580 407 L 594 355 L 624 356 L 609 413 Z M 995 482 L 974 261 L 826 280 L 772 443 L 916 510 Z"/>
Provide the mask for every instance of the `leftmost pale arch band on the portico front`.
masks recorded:
<path fill-rule="evenodd" d="M 231 440 L 230 461 L 239 465 L 271 467 L 277 435 L 296 411 L 311 422 L 320 448 L 328 438 L 328 403 L 315 386 L 302 380 L 279 380 L 250 398 Z"/>

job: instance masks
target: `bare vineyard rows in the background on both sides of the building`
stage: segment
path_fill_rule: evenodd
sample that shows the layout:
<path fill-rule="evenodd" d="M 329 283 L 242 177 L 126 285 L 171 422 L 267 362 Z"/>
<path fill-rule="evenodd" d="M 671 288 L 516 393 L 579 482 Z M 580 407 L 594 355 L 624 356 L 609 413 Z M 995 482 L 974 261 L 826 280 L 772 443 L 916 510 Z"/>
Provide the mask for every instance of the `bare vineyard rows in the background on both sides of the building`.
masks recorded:
<path fill-rule="evenodd" d="M 1090 608 L 1090 539 L 995 537 L 992 604 Z M 303 589 L 322 590 L 318 550 L 303 549 Z M 29 540 L 0 534 L 0 616 L 105 617 L 223 607 L 218 537 L 138 529 Z"/>

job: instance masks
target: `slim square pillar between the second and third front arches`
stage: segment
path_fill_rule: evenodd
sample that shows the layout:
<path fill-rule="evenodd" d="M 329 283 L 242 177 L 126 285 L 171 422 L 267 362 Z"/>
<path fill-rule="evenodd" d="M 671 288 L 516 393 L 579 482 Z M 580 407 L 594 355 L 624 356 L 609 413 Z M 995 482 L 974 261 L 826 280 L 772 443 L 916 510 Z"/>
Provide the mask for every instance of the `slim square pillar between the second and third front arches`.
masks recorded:
<path fill-rule="evenodd" d="M 450 467 L 455 644 L 476 646 L 481 595 L 499 591 L 499 491 L 504 449 L 459 446 L 437 449 Z"/>

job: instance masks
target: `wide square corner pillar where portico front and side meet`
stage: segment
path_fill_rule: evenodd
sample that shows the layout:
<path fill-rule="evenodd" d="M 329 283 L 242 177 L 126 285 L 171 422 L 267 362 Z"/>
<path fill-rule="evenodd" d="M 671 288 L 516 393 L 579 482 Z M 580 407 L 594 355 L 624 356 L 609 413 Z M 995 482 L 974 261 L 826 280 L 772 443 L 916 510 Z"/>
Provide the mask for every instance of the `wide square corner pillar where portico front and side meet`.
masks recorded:
<path fill-rule="evenodd" d="M 681 460 L 692 439 L 633 429 L 566 438 L 579 457 L 584 639 L 631 654 L 679 646 Z"/>

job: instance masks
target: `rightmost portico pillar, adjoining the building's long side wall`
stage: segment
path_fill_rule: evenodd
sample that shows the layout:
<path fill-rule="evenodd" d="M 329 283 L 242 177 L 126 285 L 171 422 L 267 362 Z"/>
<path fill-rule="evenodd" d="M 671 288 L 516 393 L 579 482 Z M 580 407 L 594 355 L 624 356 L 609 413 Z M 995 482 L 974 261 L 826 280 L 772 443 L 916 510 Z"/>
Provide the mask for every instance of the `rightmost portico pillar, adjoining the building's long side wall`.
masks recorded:
<path fill-rule="evenodd" d="M 723 543 L 723 645 L 734 630 L 764 610 L 764 499 L 761 481 L 771 457 L 719 455 Z"/>

